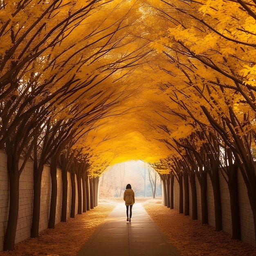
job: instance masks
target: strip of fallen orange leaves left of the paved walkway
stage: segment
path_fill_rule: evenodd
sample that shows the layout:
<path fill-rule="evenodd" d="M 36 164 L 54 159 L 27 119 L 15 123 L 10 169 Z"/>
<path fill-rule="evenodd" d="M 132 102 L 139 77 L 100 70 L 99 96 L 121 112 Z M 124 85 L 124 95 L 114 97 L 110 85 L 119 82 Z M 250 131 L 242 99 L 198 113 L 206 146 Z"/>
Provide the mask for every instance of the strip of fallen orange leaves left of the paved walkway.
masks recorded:
<path fill-rule="evenodd" d="M 0 252 L 0 256 L 75 256 L 114 208 L 115 204 L 101 204 L 54 229 L 41 231 L 38 238 L 16 244 L 14 251 Z"/>

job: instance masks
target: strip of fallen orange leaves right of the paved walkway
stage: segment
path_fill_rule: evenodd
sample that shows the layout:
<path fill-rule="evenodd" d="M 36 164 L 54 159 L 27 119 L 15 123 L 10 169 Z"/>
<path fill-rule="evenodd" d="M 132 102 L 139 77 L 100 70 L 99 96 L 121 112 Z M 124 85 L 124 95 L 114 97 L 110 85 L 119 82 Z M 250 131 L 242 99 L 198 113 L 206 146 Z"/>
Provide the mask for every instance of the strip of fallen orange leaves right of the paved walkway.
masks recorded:
<path fill-rule="evenodd" d="M 256 248 L 245 242 L 233 240 L 224 231 L 202 225 L 160 203 L 145 203 L 144 208 L 182 256 L 256 256 Z"/>

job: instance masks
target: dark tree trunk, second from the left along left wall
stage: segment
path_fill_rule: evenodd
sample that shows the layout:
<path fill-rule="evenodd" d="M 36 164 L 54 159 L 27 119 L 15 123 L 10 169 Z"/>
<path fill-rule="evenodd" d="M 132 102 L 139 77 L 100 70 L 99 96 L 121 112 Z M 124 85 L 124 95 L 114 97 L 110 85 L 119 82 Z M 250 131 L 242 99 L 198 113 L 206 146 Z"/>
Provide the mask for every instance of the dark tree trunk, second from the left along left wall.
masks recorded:
<path fill-rule="evenodd" d="M 40 164 L 38 168 L 36 169 L 34 168 L 34 200 L 33 200 L 33 217 L 32 217 L 32 225 L 31 225 L 32 238 L 38 237 L 39 235 L 42 173 L 43 173 L 42 164 Z"/>

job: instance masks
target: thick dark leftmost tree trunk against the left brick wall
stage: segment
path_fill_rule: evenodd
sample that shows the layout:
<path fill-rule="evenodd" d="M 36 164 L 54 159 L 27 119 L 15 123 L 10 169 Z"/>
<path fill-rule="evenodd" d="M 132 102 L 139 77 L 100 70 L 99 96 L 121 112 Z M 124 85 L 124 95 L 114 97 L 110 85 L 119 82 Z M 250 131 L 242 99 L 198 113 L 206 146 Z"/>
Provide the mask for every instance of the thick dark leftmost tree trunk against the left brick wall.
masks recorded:
<path fill-rule="evenodd" d="M 13 251 L 19 212 L 19 167 L 18 161 L 15 161 L 9 152 L 7 152 L 7 170 L 9 174 L 10 204 L 3 249 L 4 251 Z"/>

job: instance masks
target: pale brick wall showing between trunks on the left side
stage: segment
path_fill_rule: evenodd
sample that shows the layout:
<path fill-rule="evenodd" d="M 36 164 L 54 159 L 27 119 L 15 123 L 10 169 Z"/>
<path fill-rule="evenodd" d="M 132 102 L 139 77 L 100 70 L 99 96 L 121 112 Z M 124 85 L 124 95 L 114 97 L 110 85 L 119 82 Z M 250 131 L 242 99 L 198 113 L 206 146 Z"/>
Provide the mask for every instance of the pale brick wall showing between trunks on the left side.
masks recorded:
<path fill-rule="evenodd" d="M 20 161 L 20 165 L 22 161 Z M 62 177 L 61 170 L 57 170 L 57 204 L 55 223 L 61 221 L 62 205 Z M 76 179 L 75 179 L 76 180 Z M 7 173 L 7 156 L 0 150 L 0 251 L 3 250 L 4 234 L 7 227 L 9 214 L 9 180 Z M 71 180 L 70 173 L 67 173 L 68 193 L 67 193 L 67 218 L 70 218 L 71 208 Z M 16 231 L 15 243 L 30 237 L 30 229 L 33 211 L 33 163 L 28 161 L 20 175 L 20 195 L 19 195 L 19 214 Z M 45 166 L 42 174 L 41 183 L 41 204 L 39 231 L 47 229 L 49 221 L 49 209 L 51 203 L 51 175 L 49 166 Z M 77 182 L 76 182 L 77 191 Z M 78 212 L 78 194 L 76 192 L 76 210 Z"/>

